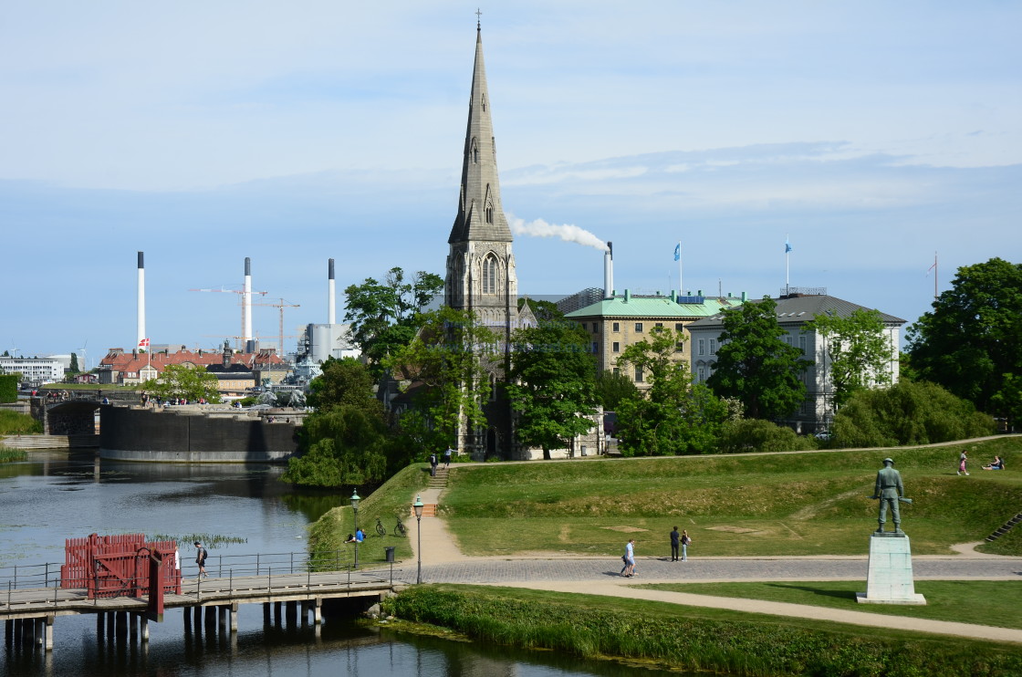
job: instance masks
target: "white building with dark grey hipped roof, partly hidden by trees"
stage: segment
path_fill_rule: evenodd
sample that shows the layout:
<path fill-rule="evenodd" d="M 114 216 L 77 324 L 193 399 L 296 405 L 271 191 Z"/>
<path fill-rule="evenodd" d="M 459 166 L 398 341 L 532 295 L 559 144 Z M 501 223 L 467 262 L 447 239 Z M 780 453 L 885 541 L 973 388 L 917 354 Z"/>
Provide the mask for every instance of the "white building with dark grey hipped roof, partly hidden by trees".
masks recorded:
<path fill-rule="evenodd" d="M 749 301 L 748 303 L 756 303 Z M 777 321 L 785 330 L 781 337 L 789 346 L 795 346 L 802 355 L 812 360 L 812 366 L 802 374 L 805 383 L 805 401 L 785 422 L 800 433 L 815 433 L 828 430 L 834 416 L 834 383 L 831 380 L 830 357 L 823 338 L 816 331 L 807 330 L 805 324 L 820 315 L 834 314 L 847 317 L 856 310 L 869 310 L 864 306 L 827 296 L 792 294 L 777 300 Z M 898 379 L 898 345 L 901 325 L 904 320 L 893 315 L 880 313 L 884 331 L 890 346 L 890 360 L 887 373 L 890 382 Z M 700 319 L 688 325 L 692 341 L 689 342 L 692 371 L 697 382 L 705 381 L 716 367 L 717 349 L 724 330 L 724 316 L 719 313 Z"/>

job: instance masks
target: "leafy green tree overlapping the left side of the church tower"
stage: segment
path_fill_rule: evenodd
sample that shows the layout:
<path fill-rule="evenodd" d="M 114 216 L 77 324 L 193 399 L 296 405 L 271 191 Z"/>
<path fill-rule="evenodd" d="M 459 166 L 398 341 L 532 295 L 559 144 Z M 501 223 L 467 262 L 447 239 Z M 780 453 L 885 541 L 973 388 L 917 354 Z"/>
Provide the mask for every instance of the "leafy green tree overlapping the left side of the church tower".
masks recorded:
<path fill-rule="evenodd" d="M 411 407 L 401 415 L 406 444 L 425 454 L 456 443 L 464 417 L 469 427 L 485 423 L 490 372 L 502 360 L 497 335 L 470 311 L 444 306 L 420 314 L 415 337 L 383 361 L 406 383 Z"/>

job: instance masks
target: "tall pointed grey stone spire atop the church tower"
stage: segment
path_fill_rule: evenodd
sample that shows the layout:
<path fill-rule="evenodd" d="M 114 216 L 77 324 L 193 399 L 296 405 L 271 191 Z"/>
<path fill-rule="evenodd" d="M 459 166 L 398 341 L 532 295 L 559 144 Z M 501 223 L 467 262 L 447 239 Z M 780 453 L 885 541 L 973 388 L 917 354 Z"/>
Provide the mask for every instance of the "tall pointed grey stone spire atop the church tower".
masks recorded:
<path fill-rule="evenodd" d="M 486 240 L 510 242 L 511 230 L 501 206 L 497 176 L 497 149 L 486 90 L 486 70 L 482 61 L 482 30 L 476 22 L 475 66 L 468 102 L 468 129 L 461 165 L 461 194 L 458 216 L 448 242 Z"/>

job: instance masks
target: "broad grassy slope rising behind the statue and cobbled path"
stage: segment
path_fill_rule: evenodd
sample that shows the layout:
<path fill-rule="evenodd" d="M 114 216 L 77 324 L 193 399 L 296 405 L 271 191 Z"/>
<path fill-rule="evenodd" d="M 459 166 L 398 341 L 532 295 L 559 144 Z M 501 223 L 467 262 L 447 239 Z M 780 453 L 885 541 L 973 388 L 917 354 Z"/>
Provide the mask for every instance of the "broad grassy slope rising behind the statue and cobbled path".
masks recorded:
<path fill-rule="evenodd" d="M 975 467 L 968 478 L 956 473 L 962 448 Z M 1009 469 L 979 469 L 994 454 Z M 954 554 L 950 544 L 983 540 L 1022 507 L 1022 473 L 1011 469 L 1012 458 L 1022 462 L 1022 437 L 1005 437 L 896 450 L 454 465 L 440 509 L 474 555 L 614 555 L 629 536 L 661 542 L 675 525 L 702 556 L 865 554 L 877 514 L 868 497 L 888 455 L 915 499 L 901 516 L 916 554 Z M 983 549 L 1020 555 L 1020 535 Z"/>

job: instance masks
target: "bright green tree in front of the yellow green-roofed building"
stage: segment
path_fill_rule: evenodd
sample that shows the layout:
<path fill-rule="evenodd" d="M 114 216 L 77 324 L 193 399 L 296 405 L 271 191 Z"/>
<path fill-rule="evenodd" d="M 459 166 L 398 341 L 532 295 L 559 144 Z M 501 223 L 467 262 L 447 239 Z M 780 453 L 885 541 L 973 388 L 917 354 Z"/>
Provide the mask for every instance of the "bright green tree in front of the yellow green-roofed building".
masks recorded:
<path fill-rule="evenodd" d="M 713 451 L 727 405 L 705 386 L 692 382 L 684 362 L 676 362 L 681 331 L 654 327 L 650 337 L 624 349 L 617 363 L 642 371 L 650 387 L 617 406 L 621 453 L 699 454 Z"/>

